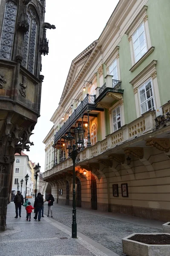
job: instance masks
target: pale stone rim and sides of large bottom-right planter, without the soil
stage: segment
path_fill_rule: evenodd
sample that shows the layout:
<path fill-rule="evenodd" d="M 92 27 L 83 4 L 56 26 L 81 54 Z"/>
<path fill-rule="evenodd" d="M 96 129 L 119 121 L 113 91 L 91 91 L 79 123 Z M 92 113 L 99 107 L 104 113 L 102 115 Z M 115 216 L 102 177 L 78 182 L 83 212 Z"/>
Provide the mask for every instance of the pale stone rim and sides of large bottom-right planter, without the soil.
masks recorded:
<path fill-rule="evenodd" d="M 142 235 L 159 235 L 164 233 L 140 233 Z M 123 253 L 127 256 L 170 256 L 170 244 L 143 244 L 130 240 L 136 233 L 122 239 Z M 169 234 L 167 234 L 169 235 Z"/>

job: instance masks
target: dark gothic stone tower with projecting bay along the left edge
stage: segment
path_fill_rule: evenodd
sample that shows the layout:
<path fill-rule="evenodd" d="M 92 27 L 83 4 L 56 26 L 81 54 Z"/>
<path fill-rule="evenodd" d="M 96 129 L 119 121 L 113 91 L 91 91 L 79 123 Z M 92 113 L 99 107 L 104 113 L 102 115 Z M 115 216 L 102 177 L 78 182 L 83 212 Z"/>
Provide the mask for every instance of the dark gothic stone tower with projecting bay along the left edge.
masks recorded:
<path fill-rule="evenodd" d="M 48 54 L 45 0 L 0 0 L 0 231 L 6 210 L 14 154 L 29 151 L 40 116 L 41 55 Z"/>

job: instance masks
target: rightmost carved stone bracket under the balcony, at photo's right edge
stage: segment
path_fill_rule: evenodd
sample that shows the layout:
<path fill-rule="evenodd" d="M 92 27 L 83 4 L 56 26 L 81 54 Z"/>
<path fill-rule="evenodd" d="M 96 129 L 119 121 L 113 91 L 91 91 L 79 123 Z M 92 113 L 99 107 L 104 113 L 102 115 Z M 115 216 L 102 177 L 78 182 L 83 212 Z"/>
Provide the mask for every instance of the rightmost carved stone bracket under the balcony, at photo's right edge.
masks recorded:
<path fill-rule="evenodd" d="M 150 138 L 146 142 L 147 146 L 155 147 L 161 151 L 168 152 L 170 150 L 170 140 L 160 138 Z"/>

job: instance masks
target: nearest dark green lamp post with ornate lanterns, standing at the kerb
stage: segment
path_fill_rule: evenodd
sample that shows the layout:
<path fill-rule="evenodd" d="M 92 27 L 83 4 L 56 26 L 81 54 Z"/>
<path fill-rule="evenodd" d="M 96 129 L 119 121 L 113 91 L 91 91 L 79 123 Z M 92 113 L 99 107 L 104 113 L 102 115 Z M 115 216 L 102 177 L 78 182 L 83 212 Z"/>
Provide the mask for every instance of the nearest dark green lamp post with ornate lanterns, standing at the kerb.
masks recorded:
<path fill-rule="evenodd" d="M 64 137 L 66 150 L 69 156 L 72 158 L 73 163 L 73 193 L 72 193 L 72 238 L 77 238 L 77 223 L 76 223 L 76 199 L 75 199 L 75 160 L 84 143 L 84 129 L 81 127 L 81 123 L 78 123 L 78 127 L 75 128 L 75 138 L 72 136 L 71 131 Z M 74 140 L 76 145 L 74 144 Z M 77 148 L 76 148 L 77 146 Z"/>

